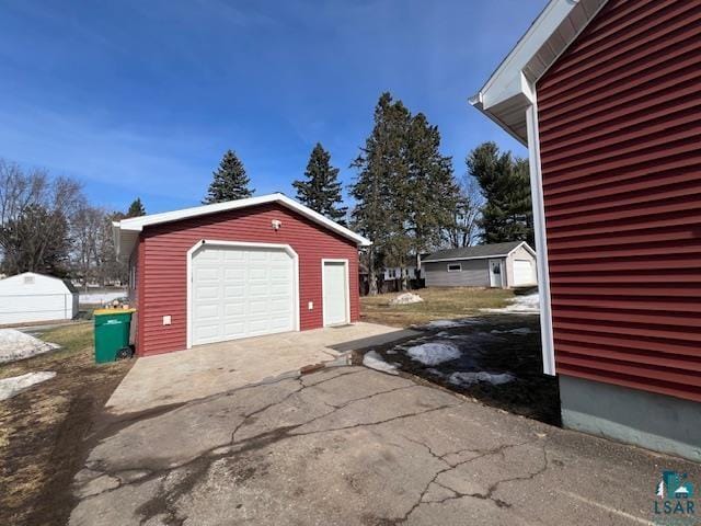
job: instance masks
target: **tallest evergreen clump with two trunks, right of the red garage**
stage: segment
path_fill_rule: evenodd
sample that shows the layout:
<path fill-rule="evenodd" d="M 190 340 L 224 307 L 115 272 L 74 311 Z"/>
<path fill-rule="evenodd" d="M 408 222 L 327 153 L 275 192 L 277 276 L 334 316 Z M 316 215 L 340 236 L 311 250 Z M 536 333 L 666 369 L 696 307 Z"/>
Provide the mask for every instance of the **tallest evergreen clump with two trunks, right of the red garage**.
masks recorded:
<path fill-rule="evenodd" d="M 401 101 L 383 93 L 375 110 L 375 126 L 360 156 L 352 195 L 353 219 L 374 244 L 368 253 L 370 294 L 381 265 L 402 270 L 406 288 L 410 259 L 441 241 L 451 225 L 459 188 L 452 161 L 440 155 L 440 134 L 425 115 L 412 116 Z"/>

